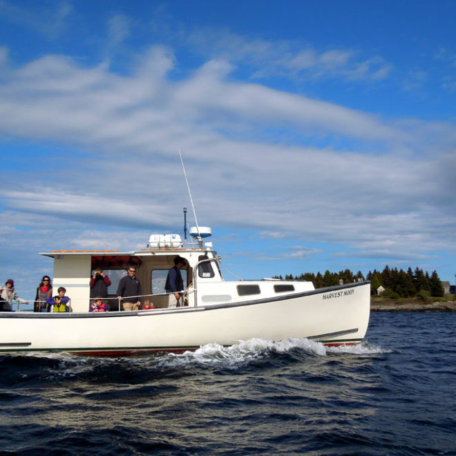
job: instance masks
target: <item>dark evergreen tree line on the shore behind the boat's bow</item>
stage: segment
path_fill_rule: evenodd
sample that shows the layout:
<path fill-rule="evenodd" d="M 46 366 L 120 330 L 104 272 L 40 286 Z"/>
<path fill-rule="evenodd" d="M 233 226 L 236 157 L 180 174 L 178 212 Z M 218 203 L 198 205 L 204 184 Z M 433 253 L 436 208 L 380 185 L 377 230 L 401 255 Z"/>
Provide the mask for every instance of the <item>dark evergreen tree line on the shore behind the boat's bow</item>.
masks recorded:
<path fill-rule="evenodd" d="M 276 278 L 283 279 L 282 276 L 276 276 Z M 339 272 L 326 271 L 324 274 L 321 274 L 321 272 L 317 274 L 305 272 L 299 276 L 293 276 L 292 274 L 285 276 L 286 281 L 310 281 L 314 284 L 315 288 L 332 287 L 333 285 L 339 285 L 340 281 L 343 281 L 343 283 L 352 283 L 359 279 L 367 279 L 372 282 L 372 294 L 376 294 L 377 289 L 381 285 L 385 289 L 382 296 L 389 296 L 390 298 L 444 296 L 444 287 L 441 285 L 437 272 L 434 271 L 429 275 L 428 272 L 424 272 L 423 269 L 419 269 L 418 267 L 415 270 L 409 267 L 407 271 L 403 271 L 403 269 L 391 269 L 386 265 L 383 271 L 380 272 L 374 269 L 372 272 L 369 271 L 365 277 L 361 271 L 353 274 L 350 269 Z"/>

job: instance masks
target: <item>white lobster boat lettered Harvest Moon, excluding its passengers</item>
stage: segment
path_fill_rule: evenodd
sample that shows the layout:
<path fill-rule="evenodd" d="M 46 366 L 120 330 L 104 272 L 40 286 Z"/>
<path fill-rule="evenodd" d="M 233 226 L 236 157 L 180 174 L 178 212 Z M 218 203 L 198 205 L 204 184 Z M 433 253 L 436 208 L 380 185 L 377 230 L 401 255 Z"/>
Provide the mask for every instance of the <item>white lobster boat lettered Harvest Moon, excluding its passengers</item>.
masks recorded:
<path fill-rule="evenodd" d="M 177 234 L 153 235 L 139 251 L 51 251 L 53 287 L 66 287 L 73 312 L 0 313 L 0 352 L 64 351 L 79 354 L 130 354 L 195 350 L 207 343 L 232 345 L 253 338 L 303 338 L 326 345 L 362 341 L 368 329 L 370 282 L 315 289 L 307 281 L 226 281 L 210 229 L 191 229 L 198 242 Z M 187 236 L 186 236 L 187 237 Z M 164 281 L 173 258 L 182 269 L 186 305 L 168 308 Z M 128 265 L 137 267 L 142 299 L 153 310 L 117 311 L 117 283 Z M 102 267 L 113 282 L 111 312 L 90 313 L 91 272 Z"/>

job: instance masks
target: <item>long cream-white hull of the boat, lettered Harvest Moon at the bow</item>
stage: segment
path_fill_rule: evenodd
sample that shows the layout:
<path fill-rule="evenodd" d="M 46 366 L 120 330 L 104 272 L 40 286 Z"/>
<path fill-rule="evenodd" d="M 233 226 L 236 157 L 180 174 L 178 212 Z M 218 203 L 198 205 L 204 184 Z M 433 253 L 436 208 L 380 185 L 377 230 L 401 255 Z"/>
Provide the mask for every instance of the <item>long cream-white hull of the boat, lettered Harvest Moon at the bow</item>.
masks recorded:
<path fill-rule="evenodd" d="M 207 343 L 303 338 L 359 343 L 368 329 L 370 283 L 242 303 L 106 314 L 0 314 L 0 352 L 182 352 Z"/>

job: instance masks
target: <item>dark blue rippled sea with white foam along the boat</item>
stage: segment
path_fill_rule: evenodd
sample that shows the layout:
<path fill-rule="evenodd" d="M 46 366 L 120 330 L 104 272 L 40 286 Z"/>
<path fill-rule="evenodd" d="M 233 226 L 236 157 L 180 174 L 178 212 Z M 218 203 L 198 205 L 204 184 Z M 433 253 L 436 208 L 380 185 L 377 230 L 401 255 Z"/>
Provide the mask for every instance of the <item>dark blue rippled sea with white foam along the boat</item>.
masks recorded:
<path fill-rule="evenodd" d="M 456 455 L 456 314 L 366 341 L 154 357 L 0 355 L 1 455 Z"/>

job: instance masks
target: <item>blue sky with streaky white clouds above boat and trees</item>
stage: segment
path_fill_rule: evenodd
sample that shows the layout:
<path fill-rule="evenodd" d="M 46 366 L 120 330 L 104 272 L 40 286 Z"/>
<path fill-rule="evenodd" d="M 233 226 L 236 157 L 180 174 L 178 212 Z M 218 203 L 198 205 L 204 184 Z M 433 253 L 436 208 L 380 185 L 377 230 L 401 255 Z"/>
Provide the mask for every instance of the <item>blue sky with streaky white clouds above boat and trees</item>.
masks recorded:
<path fill-rule="evenodd" d="M 456 2 L 0 0 L 0 282 L 212 228 L 247 278 L 455 283 Z M 229 274 L 227 274 L 227 278 Z"/>

